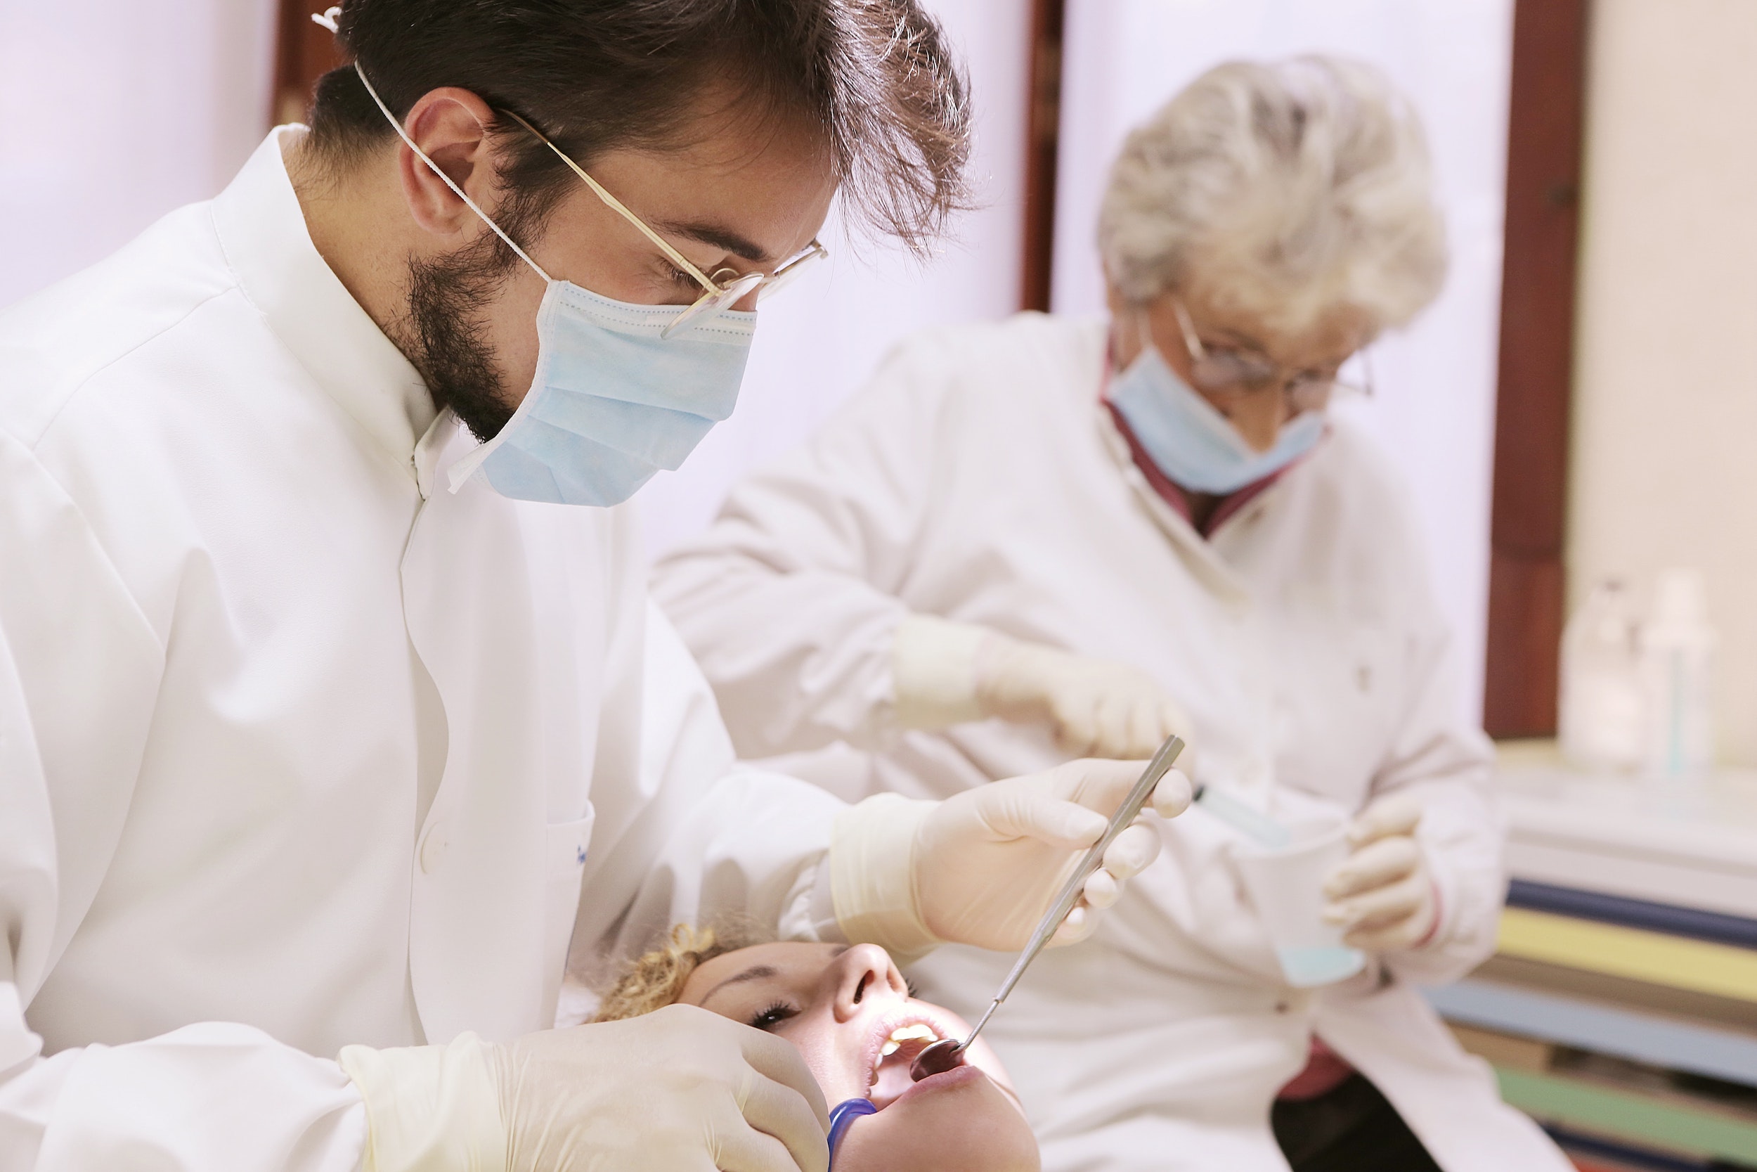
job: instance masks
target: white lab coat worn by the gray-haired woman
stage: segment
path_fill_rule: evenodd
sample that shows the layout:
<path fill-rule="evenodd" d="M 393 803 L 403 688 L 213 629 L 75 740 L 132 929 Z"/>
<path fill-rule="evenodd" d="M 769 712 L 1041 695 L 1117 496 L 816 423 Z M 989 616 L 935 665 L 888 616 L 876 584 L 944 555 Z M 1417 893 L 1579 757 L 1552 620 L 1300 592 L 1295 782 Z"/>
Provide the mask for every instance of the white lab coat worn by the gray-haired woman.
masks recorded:
<path fill-rule="evenodd" d="M 1411 988 L 1488 956 L 1504 877 L 1490 749 L 1460 715 L 1397 481 L 1337 423 L 1205 541 L 1132 462 L 1103 371 L 1100 322 L 924 334 L 661 564 L 655 596 L 738 750 L 870 750 L 870 771 L 833 782 L 845 796 L 940 796 L 1061 759 L 1037 727 L 896 726 L 893 633 L 915 611 L 1151 671 L 1193 717 L 1197 780 L 1247 799 L 1355 812 L 1420 792 L 1444 908 L 1425 947 L 1316 996 L 1283 986 L 1233 833 L 1198 807 L 1093 942 L 1037 961 L 989 1037 L 1049 1172 L 1284 1168 L 1269 1109 L 1312 1030 L 1448 1172 L 1567 1168 Z M 970 1014 L 1007 959 L 942 949 L 914 977 Z"/>

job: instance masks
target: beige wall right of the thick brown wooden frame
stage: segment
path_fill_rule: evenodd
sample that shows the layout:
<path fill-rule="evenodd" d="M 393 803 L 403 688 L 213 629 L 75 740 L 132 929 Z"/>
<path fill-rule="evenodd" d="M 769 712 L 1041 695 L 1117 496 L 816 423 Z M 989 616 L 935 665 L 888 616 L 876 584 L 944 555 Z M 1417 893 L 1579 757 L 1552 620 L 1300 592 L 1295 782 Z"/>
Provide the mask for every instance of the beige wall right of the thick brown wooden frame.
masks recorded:
<path fill-rule="evenodd" d="M 1757 764 L 1757 5 L 1597 0 L 1590 37 L 1569 599 L 1701 568 Z"/>

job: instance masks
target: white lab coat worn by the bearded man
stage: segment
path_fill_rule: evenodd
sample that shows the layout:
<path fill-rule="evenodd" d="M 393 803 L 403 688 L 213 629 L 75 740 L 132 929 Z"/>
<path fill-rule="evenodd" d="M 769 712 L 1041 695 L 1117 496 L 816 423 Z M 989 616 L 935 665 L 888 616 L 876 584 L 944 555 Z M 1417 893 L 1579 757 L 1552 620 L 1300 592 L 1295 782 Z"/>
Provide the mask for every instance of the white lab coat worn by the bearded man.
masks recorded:
<path fill-rule="evenodd" d="M 445 488 L 290 134 L 0 315 L 4 1172 L 353 1168 L 344 1044 L 819 898 L 840 803 L 727 777 L 631 515 Z"/>

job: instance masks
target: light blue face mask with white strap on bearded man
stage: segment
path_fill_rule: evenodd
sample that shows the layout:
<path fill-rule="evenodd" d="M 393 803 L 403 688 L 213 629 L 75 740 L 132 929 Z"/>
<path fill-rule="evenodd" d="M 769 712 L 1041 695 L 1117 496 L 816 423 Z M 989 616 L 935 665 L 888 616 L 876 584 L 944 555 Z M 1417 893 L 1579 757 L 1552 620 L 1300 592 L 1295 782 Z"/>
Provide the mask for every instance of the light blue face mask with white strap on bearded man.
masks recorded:
<path fill-rule="evenodd" d="M 517 501 L 606 506 L 627 501 L 659 469 L 676 471 L 733 413 L 757 315 L 720 309 L 662 337 L 691 306 L 611 300 L 550 278 L 415 146 L 358 65 L 355 72 L 409 149 L 548 283 L 531 390 L 494 439 L 452 466 L 452 492 L 481 471 Z"/>

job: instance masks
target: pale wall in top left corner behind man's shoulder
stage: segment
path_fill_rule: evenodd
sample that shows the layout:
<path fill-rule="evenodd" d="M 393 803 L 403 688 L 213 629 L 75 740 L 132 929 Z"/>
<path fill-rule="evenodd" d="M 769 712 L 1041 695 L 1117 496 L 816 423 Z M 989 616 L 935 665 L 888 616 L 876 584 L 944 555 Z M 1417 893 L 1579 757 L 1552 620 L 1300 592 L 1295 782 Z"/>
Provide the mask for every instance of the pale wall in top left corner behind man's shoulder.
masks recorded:
<path fill-rule="evenodd" d="M 225 186 L 272 53 L 272 0 L 0 0 L 0 306 Z"/>

